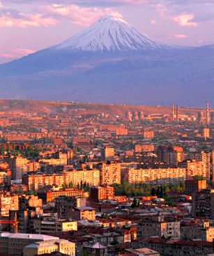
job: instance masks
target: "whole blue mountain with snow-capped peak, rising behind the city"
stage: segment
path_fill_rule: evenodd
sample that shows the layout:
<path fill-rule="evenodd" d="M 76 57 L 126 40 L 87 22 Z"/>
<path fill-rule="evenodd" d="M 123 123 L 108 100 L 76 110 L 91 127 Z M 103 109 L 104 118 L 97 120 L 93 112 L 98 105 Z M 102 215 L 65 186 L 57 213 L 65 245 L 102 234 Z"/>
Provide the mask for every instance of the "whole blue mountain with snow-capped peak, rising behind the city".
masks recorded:
<path fill-rule="evenodd" d="M 213 84 L 214 45 L 158 43 L 114 16 L 0 65 L 1 98 L 202 106 Z"/>

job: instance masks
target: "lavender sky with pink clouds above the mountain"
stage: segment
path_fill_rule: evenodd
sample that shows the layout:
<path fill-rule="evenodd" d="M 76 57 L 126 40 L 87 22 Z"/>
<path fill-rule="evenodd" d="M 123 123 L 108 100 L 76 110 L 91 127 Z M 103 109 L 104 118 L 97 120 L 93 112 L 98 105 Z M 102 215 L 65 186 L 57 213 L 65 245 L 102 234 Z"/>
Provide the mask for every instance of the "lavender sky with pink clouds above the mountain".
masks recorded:
<path fill-rule="evenodd" d="M 214 44 L 214 0 L 0 0 L 0 63 L 59 44 L 112 14 L 161 43 Z"/>

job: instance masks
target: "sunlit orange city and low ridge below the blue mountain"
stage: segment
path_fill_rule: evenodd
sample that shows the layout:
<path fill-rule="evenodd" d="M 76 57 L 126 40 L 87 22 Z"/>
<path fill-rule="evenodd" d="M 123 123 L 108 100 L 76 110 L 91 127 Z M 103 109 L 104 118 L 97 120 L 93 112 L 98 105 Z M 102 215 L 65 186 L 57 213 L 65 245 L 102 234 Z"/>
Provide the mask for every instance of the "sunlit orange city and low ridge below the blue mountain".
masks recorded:
<path fill-rule="evenodd" d="M 1 255 L 213 255 L 208 103 L 0 105 Z"/>

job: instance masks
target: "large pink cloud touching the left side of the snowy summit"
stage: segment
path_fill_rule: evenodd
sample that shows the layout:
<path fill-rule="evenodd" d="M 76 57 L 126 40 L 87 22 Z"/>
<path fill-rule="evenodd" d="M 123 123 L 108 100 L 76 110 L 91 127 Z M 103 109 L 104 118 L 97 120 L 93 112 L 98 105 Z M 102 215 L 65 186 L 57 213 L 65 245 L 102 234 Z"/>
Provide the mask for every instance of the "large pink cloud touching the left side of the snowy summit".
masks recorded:
<path fill-rule="evenodd" d="M 51 6 L 45 6 L 44 8 L 49 14 L 66 17 L 72 23 L 86 27 L 103 15 L 117 15 L 121 17 L 120 13 L 111 8 L 80 7 L 74 4 L 69 6 L 52 4 Z"/>

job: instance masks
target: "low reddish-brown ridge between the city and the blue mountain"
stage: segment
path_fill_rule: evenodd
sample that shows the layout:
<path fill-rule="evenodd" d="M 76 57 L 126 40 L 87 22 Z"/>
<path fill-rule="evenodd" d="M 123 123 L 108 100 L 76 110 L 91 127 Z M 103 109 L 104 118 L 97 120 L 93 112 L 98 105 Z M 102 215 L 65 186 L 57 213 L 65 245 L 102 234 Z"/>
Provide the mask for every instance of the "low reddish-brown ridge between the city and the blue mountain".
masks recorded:
<path fill-rule="evenodd" d="M 23 112 L 40 114 L 125 114 L 127 111 L 143 110 L 148 114 L 171 114 L 171 106 L 136 106 L 100 103 L 69 103 L 37 100 L 0 100 L 0 112 Z M 179 107 L 179 114 L 197 116 L 197 108 Z M 205 111 L 205 110 L 204 110 Z"/>

